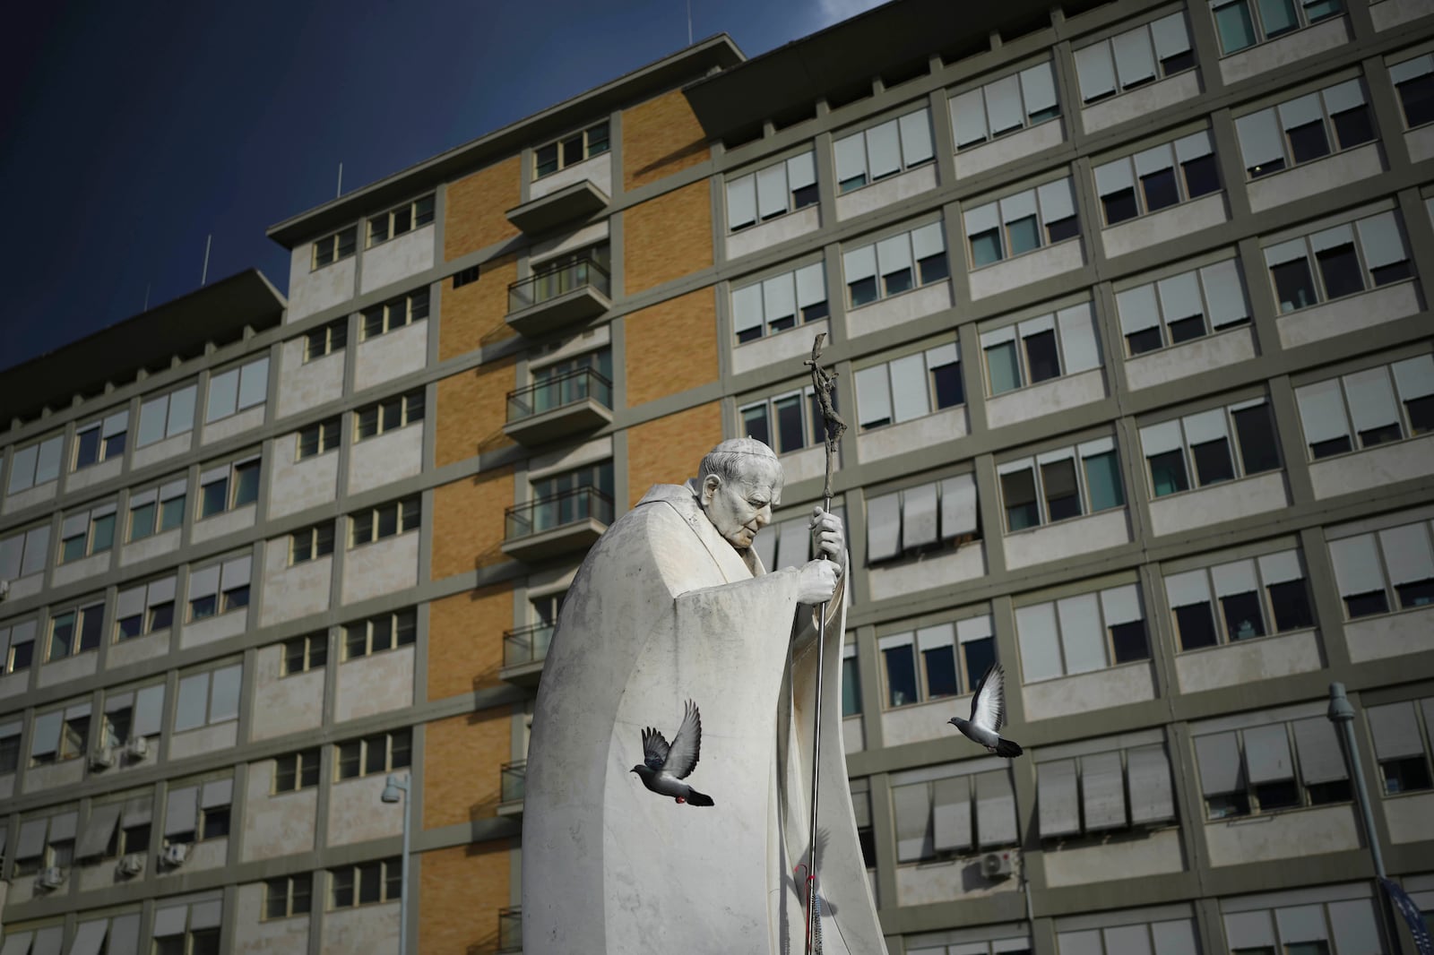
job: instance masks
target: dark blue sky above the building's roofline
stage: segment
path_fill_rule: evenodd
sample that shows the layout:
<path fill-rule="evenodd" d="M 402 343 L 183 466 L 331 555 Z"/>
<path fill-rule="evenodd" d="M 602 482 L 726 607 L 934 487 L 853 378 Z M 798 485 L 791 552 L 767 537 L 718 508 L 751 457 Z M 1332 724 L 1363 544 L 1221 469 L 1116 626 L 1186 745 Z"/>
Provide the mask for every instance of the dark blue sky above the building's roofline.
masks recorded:
<path fill-rule="evenodd" d="M 747 56 L 878 0 L 691 0 Z M 684 0 L 16 4 L 0 367 L 288 258 L 264 229 L 687 44 Z"/>

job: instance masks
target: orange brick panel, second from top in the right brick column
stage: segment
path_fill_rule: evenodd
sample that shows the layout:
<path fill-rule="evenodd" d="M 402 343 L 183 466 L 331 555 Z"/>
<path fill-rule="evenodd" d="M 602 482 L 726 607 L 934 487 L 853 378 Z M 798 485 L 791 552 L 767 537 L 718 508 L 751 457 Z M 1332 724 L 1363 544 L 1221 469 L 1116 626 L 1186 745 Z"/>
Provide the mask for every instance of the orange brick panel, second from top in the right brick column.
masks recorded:
<path fill-rule="evenodd" d="M 707 181 L 693 182 L 622 214 L 627 294 L 670 282 L 713 264 L 713 209 Z"/>

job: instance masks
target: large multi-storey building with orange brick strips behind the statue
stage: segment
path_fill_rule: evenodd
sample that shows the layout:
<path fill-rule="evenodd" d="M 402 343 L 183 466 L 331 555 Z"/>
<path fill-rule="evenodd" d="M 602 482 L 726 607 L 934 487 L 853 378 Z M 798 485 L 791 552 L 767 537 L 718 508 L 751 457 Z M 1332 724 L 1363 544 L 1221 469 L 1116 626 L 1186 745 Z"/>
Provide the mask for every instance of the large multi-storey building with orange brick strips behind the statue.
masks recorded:
<path fill-rule="evenodd" d="M 379 951 L 400 905 L 519 951 L 562 594 L 724 436 L 807 558 L 815 333 L 891 951 L 1388 951 L 1325 707 L 1428 916 L 1431 50 L 1420 0 L 706 40 L 274 227 L 287 295 L 6 373 L 0 955 Z M 997 660 L 1011 763 L 945 726 Z"/>

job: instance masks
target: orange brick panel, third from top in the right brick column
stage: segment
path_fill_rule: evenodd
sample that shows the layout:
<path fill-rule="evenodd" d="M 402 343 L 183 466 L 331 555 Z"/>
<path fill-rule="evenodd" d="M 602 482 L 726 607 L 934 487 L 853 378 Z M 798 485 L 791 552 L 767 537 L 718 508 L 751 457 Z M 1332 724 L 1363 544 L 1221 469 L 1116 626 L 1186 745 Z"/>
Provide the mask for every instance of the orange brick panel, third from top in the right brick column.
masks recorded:
<path fill-rule="evenodd" d="M 628 407 L 717 380 L 716 303 L 698 288 L 624 318 Z"/>

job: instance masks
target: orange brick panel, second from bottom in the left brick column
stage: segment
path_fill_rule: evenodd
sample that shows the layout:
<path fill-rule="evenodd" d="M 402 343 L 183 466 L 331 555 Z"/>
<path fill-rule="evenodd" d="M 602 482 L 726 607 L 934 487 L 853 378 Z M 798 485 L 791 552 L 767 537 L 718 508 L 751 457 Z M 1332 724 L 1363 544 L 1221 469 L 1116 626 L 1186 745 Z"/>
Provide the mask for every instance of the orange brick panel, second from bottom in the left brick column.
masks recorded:
<path fill-rule="evenodd" d="M 429 723 L 423 743 L 423 827 L 489 819 L 502 797 L 499 770 L 512 759 L 512 707 Z"/>

